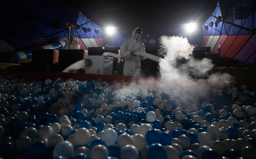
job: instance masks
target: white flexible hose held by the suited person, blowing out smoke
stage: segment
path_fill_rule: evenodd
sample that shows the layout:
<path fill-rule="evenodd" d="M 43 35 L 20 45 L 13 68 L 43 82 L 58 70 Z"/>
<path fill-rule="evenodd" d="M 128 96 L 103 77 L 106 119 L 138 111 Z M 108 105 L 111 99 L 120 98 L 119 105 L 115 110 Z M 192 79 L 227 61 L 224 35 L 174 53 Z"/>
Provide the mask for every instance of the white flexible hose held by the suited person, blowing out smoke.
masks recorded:
<path fill-rule="evenodd" d="M 114 54 L 114 53 L 111 53 L 111 52 L 104 52 L 103 55 L 104 56 L 111 56 L 113 58 L 122 58 L 123 56 L 125 56 L 125 55 L 121 55 L 121 54 Z M 136 51 L 135 55 L 146 57 L 146 58 L 148 58 L 150 60 L 153 60 L 153 61 L 156 61 L 158 63 L 161 61 L 160 57 L 149 54 L 149 53 L 146 53 L 146 52 Z"/>

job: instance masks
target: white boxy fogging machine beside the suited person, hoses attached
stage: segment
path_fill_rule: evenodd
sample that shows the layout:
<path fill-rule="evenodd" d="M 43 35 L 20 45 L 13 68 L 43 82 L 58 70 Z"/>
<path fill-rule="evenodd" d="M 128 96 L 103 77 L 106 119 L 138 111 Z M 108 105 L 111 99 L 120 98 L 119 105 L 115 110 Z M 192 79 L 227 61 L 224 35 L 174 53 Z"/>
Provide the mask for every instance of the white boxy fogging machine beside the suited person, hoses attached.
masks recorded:
<path fill-rule="evenodd" d="M 98 55 L 86 55 L 85 59 L 92 60 L 92 65 L 85 68 L 85 73 L 113 75 L 113 58 Z"/>

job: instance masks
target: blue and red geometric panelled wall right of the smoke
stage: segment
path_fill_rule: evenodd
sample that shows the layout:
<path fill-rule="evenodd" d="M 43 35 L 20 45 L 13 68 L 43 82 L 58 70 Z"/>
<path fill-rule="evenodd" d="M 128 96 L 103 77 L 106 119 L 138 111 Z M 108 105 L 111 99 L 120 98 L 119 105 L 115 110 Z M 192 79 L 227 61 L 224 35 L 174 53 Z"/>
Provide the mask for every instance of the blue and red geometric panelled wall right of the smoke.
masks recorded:
<path fill-rule="evenodd" d="M 256 0 L 219 0 L 202 27 L 211 53 L 256 64 Z"/>

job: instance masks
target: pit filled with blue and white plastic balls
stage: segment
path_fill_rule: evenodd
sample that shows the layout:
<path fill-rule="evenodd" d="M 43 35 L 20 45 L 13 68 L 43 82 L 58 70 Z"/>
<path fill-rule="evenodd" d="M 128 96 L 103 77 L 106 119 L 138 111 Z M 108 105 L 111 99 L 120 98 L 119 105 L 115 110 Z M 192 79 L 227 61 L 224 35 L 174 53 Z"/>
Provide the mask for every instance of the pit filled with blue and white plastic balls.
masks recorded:
<path fill-rule="evenodd" d="M 0 157 L 254 158 L 256 90 L 172 93 L 101 79 L 1 78 Z"/>

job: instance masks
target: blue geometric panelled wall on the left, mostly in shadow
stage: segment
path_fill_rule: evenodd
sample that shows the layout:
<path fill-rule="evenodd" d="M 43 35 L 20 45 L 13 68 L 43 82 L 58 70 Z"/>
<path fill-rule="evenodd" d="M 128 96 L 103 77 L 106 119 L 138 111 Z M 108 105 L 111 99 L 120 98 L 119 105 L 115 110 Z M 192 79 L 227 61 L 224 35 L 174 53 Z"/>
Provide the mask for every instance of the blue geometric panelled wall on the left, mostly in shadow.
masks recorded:
<path fill-rule="evenodd" d="M 2 8 L 8 12 L 1 15 L 0 39 L 12 50 L 24 50 L 68 37 L 67 23 L 78 26 L 70 30 L 70 35 L 78 37 L 80 49 L 102 46 L 101 28 L 61 0 L 8 0 Z M 12 50 L 0 48 L 0 52 Z"/>

